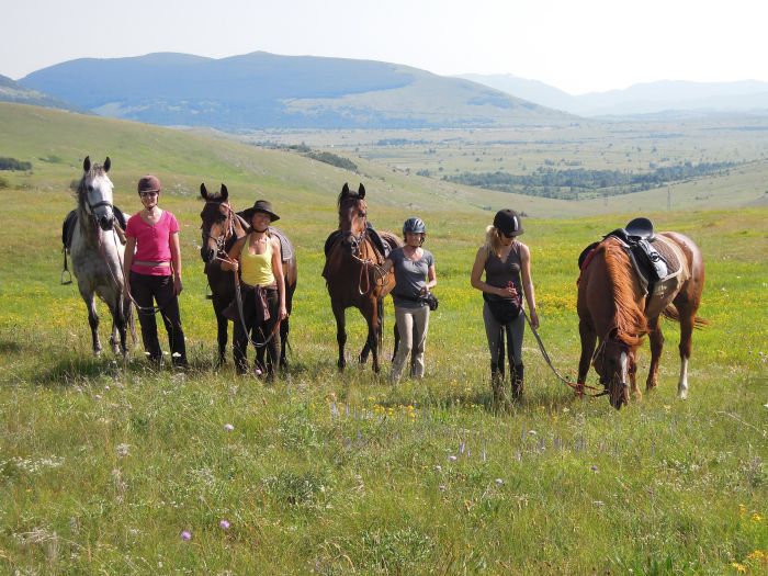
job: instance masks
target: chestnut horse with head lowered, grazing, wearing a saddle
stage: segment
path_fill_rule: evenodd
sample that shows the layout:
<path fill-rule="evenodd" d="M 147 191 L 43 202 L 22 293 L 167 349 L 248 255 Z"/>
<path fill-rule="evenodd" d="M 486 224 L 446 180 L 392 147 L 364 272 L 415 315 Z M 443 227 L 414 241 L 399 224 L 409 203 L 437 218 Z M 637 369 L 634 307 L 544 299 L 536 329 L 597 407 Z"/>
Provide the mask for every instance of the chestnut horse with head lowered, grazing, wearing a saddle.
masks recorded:
<path fill-rule="evenodd" d="M 583 267 L 578 282 L 577 310 L 581 337 L 578 384 L 584 385 L 590 363 L 607 387 L 611 405 L 619 409 L 629 404 L 630 389 L 640 398 L 635 382 L 636 350 L 645 335 L 651 338 L 651 369 L 646 381 L 650 391 L 658 383 L 658 363 L 664 347 L 659 324 L 663 315 L 680 324 L 680 379 L 678 397 L 688 396 L 688 360 L 694 327 L 707 324 L 697 317 L 704 287 L 704 262 L 690 238 L 665 231 L 656 235 L 679 260 L 679 275 L 657 286 L 646 302 L 629 255 L 620 240 L 601 241 Z M 674 282 L 671 282 L 674 281 Z M 666 290 L 664 290 L 666 287 Z M 596 351 L 597 343 L 597 351 Z"/>

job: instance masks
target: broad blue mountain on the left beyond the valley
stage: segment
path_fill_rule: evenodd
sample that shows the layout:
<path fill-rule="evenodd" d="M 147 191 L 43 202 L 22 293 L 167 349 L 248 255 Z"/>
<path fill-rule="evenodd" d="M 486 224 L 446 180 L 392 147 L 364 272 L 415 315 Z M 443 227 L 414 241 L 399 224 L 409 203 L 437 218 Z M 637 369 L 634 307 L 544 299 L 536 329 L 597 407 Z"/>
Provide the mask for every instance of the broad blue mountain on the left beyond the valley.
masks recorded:
<path fill-rule="evenodd" d="M 423 128 L 553 125 L 569 114 L 459 78 L 395 64 L 257 52 L 78 59 L 21 79 L 104 116 L 160 125 Z"/>

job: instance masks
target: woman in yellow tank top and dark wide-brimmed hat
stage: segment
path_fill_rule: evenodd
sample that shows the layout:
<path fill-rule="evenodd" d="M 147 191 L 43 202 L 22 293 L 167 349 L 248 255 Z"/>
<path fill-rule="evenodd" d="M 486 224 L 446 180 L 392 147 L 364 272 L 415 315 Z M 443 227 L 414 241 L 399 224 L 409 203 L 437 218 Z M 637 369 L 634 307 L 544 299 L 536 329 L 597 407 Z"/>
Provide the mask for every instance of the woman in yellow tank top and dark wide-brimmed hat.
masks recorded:
<path fill-rule="evenodd" d="M 238 374 L 248 372 L 250 338 L 259 345 L 255 365 L 257 375 L 266 374 L 272 380 L 280 364 L 278 324 L 287 317 L 280 240 L 269 231 L 270 224 L 280 216 L 272 212 L 272 205 L 266 200 L 256 201 L 252 208 L 241 214 L 250 223 L 251 233 L 231 247 L 229 262 L 222 262 L 223 270 L 239 270 L 241 280 L 242 321 L 235 320 L 235 369 Z"/>

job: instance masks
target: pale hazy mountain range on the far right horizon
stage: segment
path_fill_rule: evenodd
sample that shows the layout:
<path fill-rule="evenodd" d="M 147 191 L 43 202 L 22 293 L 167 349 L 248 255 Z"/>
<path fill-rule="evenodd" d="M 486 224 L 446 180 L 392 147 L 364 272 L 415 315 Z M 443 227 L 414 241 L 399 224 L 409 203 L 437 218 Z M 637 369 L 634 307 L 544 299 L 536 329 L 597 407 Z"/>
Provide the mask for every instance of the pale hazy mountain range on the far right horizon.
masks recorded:
<path fill-rule="evenodd" d="M 636 116 L 712 113 L 768 114 L 768 82 L 685 82 L 664 80 L 634 84 L 625 90 L 572 95 L 537 80 L 512 75 L 461 75 L 542 106 L 579 116 Z M 677 113 L 677 114 L 676 114 Z"/>

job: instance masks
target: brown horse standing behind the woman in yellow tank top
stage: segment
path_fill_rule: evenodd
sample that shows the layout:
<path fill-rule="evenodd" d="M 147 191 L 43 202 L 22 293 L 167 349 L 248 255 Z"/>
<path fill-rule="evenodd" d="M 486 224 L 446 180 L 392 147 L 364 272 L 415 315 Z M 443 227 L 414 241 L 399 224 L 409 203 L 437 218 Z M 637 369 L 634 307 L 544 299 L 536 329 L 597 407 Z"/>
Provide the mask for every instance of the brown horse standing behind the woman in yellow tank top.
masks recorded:
<path fill-rule="evenodd" d="M 222 270 L 221 259 L 227 258 L 227 251 L 235 241 L 250 231 L 250 224 L 229 205 L 229 192 L 224 184 L 222 184 L 217 194 L 210 194 L 205 189 L 205 184 L 200 184 L 200 195 L 205 201 L 205 205 L 200 213 L 200 217 L 203 221 L 201 226 L 203 246 L 200 248 L 200 256 L 205 262 L 205 274 L 208 276 L 208 285 L 211 286 L 213 312 L 216 315 L 218 328 L 218 358 L 216 365 L 218 366 L 224 363 L 228 340 L 228 320 L 223 312 L 235 298 L 235 275 L 233 272 Z M 296 291 L 298 267 L 296 264 L 295 250 L 287 236 L 272 226 L 270 226 L 270 233 L 275 234 L 286 248 L 283 249 L 283 274 L 285 276 L 285 307 L 287 308 L 289 317 L 280 324 L 280 366 L 285 369 L 287 366 L 285 349 L 290 332 L 290 315 L 293 307 L 293 293 Z M 264 347 L 257 348 L 257 357 L 261 364 L 263 364 L 264 350 Z"/>

